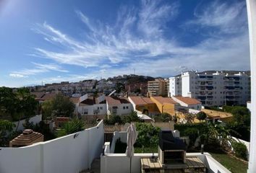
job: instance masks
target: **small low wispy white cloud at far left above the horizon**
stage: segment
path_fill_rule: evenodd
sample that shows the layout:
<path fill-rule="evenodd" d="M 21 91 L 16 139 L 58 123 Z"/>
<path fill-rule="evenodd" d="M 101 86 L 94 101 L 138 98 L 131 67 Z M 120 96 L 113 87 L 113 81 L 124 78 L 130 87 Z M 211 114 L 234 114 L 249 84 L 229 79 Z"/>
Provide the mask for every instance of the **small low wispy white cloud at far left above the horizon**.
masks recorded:
<path fill-rule="evenodd" d="M 33 63 L 33 62 L 32 62 Z M 34 68 L 25 68 L 20 71 L 12 71 L 9 76 L 16 78 L 24 78 L 30 75 L 46 73 L 49 71 L 59 71 L 59 72 L 69 72 L 67 70 L 62 69 L 60 66 L 56 64 L 42 64 L 42 63 L 33 63 L 35 65 Z"/>

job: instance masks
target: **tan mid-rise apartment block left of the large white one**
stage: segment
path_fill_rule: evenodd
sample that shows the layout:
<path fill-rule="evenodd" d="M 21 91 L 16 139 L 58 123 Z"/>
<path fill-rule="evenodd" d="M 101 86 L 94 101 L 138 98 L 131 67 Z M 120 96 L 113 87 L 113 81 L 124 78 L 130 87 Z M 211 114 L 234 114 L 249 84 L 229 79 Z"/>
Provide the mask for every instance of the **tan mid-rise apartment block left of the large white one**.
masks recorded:
<path fill-rule="evenodd" d="M 148 94 L 150 96 L 167 96 L 168 89 L 168 79 L 155 79 L 155 81 L 148 81 Z"/>

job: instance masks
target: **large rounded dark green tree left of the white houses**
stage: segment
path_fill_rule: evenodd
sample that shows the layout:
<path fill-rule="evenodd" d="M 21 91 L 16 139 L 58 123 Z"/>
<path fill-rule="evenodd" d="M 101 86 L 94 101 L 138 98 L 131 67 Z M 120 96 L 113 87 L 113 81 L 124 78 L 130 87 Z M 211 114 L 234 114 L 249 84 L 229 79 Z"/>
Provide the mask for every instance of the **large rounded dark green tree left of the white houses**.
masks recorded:
<path fill-rule="evenodd" d="M 57 94 L 54 99 L 43 102 L 43 118 L 46 117 L 72 117 L 74 112 L 74 103 L 68 97 Z"/>

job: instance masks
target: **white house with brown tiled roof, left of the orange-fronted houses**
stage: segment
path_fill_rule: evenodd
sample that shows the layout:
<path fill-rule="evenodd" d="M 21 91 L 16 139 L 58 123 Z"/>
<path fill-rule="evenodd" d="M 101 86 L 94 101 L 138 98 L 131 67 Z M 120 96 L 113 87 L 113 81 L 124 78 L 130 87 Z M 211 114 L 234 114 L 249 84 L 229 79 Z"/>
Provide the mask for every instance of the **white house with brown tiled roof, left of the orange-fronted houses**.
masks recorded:
<path fill-rule="evenodd" d="M 106 110 L 108 115 L 129 115 L 132 104 L 127 97 L 106 97 Z"/>

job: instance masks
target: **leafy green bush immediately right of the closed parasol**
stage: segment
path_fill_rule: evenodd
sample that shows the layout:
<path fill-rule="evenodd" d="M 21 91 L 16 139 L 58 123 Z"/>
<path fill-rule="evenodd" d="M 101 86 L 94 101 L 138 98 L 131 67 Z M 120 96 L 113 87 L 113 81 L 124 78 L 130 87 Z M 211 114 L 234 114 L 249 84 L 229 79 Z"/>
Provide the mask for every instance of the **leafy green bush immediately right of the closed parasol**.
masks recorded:
<path fill-rule="evenodd" d="M 138 136 L 135 147 L 142 148 L 142 152 L 148 147 L 157 148 L 160 128 L 154 127 L 148 123 L 136 123 L 136 130 Z"/>

